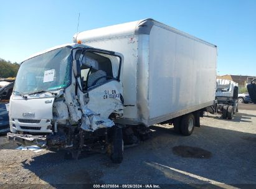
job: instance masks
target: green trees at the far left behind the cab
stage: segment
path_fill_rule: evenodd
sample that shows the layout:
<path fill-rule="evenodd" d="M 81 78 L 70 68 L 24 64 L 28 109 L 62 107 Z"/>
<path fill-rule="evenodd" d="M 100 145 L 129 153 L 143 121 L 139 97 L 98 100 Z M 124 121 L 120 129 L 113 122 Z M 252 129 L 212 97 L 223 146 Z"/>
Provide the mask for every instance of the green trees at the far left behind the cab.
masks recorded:
<path fill-rule="evenodd" d="M 19 63 L 11 63 L 0 58 L 0 78 L 16 77 L 19 66 Z"/>

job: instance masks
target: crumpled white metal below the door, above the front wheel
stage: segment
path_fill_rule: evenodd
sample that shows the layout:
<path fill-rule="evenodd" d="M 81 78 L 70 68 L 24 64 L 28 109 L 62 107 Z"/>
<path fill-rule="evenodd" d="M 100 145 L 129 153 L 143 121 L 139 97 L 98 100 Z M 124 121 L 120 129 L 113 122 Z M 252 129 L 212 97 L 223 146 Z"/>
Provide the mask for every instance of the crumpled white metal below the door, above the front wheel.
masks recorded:
<path fill-rule="evenodd" d="M 112 127 L 115 123 L 110 119 L 103 118 L 100 114 L 93 112 L 88 108 L 83 108 L 81 128 L 85 131 L 95 131 L 104 127 Z"/>

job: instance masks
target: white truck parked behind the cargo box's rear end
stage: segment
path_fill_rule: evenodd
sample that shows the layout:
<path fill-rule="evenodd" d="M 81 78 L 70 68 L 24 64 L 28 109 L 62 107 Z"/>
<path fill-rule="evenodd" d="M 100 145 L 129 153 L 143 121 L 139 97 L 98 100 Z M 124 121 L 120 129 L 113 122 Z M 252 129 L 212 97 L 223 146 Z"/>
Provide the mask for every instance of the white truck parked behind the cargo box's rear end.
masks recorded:
<path fill-rule="evenodd" d="M 217 79 L 216 103 L 207 108 L 209 113 L 222 114 L 223 119 L 232 119 L 238 112 L 238 83 L 230 80 Z"/>

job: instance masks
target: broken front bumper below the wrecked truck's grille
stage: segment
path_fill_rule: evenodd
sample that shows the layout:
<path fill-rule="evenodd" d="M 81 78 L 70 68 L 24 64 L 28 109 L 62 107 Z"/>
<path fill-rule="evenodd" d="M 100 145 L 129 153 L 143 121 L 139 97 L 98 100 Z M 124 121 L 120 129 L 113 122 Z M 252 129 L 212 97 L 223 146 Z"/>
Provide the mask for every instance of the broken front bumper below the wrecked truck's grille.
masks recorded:
<path fill-rule="evenodd" d="M 8 132 L 7 139 L 24 146 L 38 145 L 40 147 L 46 147 L 46 136 L 32 136 L 30 134 L 14 134 Z"/>

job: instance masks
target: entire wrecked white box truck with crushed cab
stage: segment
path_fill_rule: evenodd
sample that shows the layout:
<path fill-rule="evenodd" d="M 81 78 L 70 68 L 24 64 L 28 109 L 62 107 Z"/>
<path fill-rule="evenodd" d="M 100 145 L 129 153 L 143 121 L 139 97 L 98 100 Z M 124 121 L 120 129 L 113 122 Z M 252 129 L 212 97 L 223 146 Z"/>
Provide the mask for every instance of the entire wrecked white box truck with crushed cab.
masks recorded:
<path fill-rule="evenodd" d="M 75 34 L 21 64 L 7 137 L 123 158 L 149 126 L 186 136 L 214 104 L 217 47 L 153 19 Z"/>

